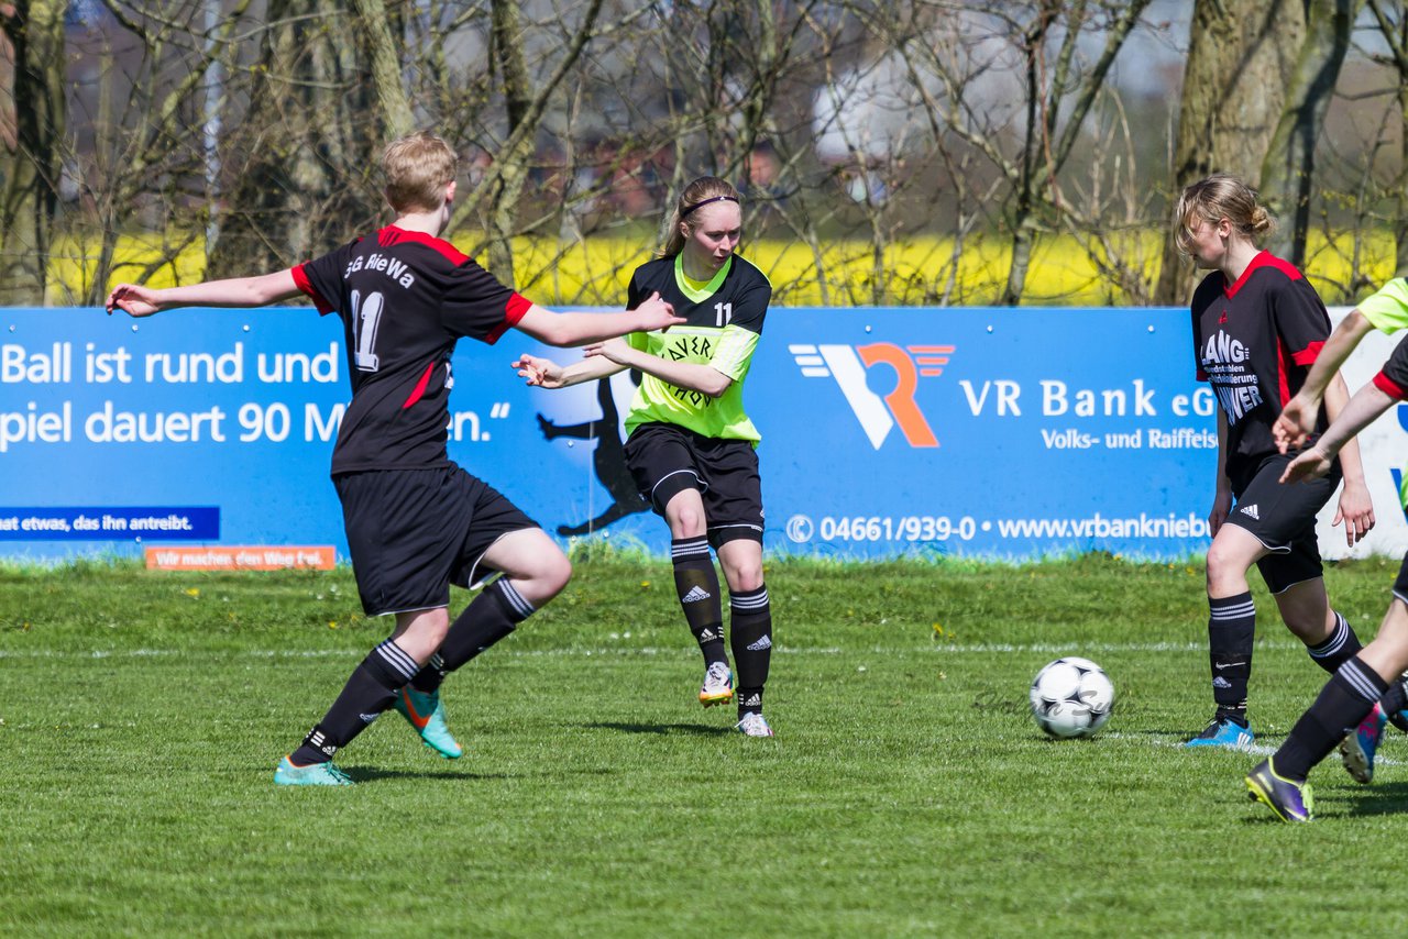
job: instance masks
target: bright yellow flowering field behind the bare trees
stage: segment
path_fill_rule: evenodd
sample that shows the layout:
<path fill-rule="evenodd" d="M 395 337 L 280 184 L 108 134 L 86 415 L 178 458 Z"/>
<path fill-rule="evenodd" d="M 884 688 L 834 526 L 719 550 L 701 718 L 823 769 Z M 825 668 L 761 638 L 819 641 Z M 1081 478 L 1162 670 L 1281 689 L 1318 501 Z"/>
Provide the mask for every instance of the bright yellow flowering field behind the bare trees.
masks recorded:
<path fill-rule="evenodd" d="M 1076 235 L 1042 238 L 1032 255 L 1024 303 L 1029 305 L 1125 305 L 1131 294 L 1105 276 L 1091 253 L 1142 270 L 1152 284 L 1159 272 L 1159 232 L 1091 242 Z M 452 238 L 467 248 L 473 235 Z M 199 239 L 179 252 L 173 235 L 127 235 L 115 252 L 113 283 L 138 277 L 149 266 L 148 283 L 196 283 L 204 276 L 204 248 Z M 1363 272 L 1354 284 L 1353 270 Z M 96 270 L 97 239 L 72 238 L 54 253 L 46 301 L 69 305 L 84 296 Z M 1007 282 L 1011 245 L 997 235 L 973 237 L 956 246 L 952 238 L 918 237 L 886 245 L 877 252 L 863 241 L 828 241 L 814 251 L 801 241 L 745 242 L 742 253 L 773 282 L 776 305 L 984 305 L 997 303 Z M 173 256 L 162 263 L 163 258 Z M 514 241 L 517 286 L 543 304 L 615 305 L 625 294 L 631 270 L 650 256 L 650 245 L 629 238 L 589 238 L 560 242 Z M 1366 283 L 1393 273 L 1394 246 L 1387 234 L 1333 241 L 1312 238 L 1307 275 L 1326 303 L 1353 303 Z M 255 273 L 255 272 L 251 272 Z M 108 284 L 110 286 L 110 284 Z M 1356 296 L 1357 294 L 1360 296 Z M 1135 297 L 1138 298 L 1138 297 Z"/>

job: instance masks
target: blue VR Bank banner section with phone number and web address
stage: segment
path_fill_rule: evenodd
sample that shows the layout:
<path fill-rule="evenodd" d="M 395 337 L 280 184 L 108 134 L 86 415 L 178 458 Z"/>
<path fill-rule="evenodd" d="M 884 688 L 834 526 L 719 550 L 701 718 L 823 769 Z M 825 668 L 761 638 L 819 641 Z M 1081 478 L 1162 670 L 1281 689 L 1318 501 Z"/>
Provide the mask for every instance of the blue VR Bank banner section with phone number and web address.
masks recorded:
<path fill-rule="evenodd" d="M 781 320 L 750 387 L 769 404 L 779 545 L 998 557 L 1205 546 L 1215 404 L 1193 377 L 1186 311 Z"/>

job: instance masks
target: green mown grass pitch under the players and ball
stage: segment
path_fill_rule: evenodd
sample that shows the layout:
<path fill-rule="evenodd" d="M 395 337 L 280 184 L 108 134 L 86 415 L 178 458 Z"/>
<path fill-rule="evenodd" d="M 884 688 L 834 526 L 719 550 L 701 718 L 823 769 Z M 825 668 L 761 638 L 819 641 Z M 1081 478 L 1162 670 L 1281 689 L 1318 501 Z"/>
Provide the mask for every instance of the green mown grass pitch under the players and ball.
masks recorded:
<path fill-rule="evenodd" d="M 1367 641 L 1397 565 L 1328 572 Z M 769 567 L 777 738 L 694 701 L 666 562 L 582 559 L 452 676 L 445 762 L 387 714 L 353 788 L 272 771 L 383 638 L 346 572 L 0 567 L 0 933 L 24 936 L 1393 935 L 1408 741 L 1318 819 L 1245 798 L 1256 755 L 1186 752 L 1207 690 L 1198 565 Z M 1270 752 L 1324 681 L 1257 583 Z M 463 597 L 456 597 L 456 605 Z M 1100 662 L 1093 741 L 1032 674 Z M 1387 893 L 1384 893 L 1387 890 Z"/>

